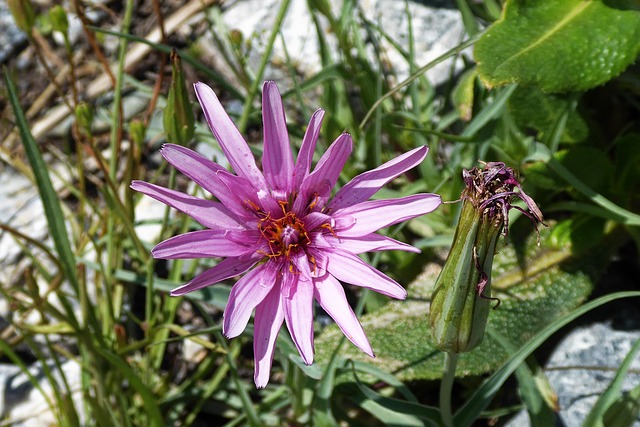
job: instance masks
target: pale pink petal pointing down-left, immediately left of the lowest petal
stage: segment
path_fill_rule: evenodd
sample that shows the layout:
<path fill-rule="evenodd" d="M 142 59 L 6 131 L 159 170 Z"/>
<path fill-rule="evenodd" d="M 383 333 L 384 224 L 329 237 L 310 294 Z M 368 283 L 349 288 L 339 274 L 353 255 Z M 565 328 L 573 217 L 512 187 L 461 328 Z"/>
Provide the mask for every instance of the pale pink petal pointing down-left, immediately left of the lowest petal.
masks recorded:
<path fill-rule="evenodd" d="M 264 300 L 276 282 L 279 267 L 267 262 L 248 272 L 233 285 L 229 302 L 224 309 L 222 333 L 227 338 L 237 337 L 246 328 L 251 312 Z"/>

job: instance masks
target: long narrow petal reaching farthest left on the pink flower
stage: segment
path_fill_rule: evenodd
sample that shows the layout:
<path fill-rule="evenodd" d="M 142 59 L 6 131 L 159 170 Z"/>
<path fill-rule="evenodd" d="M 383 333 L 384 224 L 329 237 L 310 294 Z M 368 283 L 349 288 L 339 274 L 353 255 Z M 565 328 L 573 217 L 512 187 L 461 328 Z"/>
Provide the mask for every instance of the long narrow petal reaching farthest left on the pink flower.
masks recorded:
<path fill-rule="evenodd" d="M 217 230 L 242 229 L 235 215 L 220 202 L 201 199 L 144 181 L 132 181 L 131 188 L 184 212 L 205 227 Z"/>

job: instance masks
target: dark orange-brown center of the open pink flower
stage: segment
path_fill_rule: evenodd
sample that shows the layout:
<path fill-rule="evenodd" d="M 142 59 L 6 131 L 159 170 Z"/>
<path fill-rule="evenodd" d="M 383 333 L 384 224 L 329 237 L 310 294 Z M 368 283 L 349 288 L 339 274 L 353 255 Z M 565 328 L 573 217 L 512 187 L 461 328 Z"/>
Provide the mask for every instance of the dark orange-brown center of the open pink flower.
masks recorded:
<path fill-rule="evenodd" d="M 284 216 L 272 219 L 267 216 L 260 220 L 258 228 L 262 237 L 269 243 L 268 257 L 289 257 L 291 251 L 305 248 L 309 243 L 309 235 L 304 223 L 298 219 L 295 213 L 286 212 L 283 206 Z"/>

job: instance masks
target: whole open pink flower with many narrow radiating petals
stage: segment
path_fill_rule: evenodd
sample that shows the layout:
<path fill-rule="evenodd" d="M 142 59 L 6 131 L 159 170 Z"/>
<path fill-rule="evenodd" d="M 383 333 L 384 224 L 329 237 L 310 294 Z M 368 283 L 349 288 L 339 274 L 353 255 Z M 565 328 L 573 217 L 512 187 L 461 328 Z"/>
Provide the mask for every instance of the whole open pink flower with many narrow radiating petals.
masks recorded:
<path fill-rule="evenodd" d="M 441 203 L 440 196 L 369 198 L 419 164 L 427 147 L 411 150 L 358 175 L 331 197 L 353 144 L 351 136 L 343 133 L 310 172 L 324 111 L 317 110 L 311 117 L 294 162 L 280 93 L 274 82 L 265 82 L 260 171 L 213 90 L 196 83 L 195 91 L 235 174 L 181 146 L 167 144 L 162 155 L 218 201 L 143 181 L 131 184 L 134 190 L 186 213 L 205 227 L 161 242 L 152 250 L 155 258 L 225 258 L 174 289 L 171 295 L 184 295 L 246 273 L 231 289 L 223 333 L 228 338 L 240 335 L 255 309 L 257 387 L 265 387 L 269 381 L 275 341 L 283 322 L 305 363 L 313 362 L 314 299 L 351 342 L 373 356 L 340 282 L 393 298 L 406 297 L 402 286 L 366 264 L 358 254 L 394 249 L 419 252 L 375 232 L 433 211 Z"/>

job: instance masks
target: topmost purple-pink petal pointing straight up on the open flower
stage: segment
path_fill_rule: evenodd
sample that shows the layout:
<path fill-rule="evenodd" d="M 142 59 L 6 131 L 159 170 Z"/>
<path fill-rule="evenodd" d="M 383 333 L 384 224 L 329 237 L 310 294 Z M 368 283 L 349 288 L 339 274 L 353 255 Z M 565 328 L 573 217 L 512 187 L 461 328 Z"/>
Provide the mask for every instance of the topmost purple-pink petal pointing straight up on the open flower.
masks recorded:
<path fill-rule="evenodd" d="M 289 144 L 287 121 L 282 98 L 275 82 L 267 81 L 262 88 L 262 123 L 264 151 L 262 169 L 272 190 L 292 191 L 293 155 Z"/>

